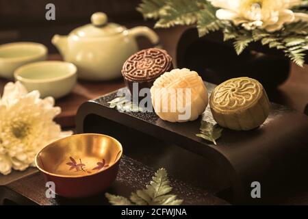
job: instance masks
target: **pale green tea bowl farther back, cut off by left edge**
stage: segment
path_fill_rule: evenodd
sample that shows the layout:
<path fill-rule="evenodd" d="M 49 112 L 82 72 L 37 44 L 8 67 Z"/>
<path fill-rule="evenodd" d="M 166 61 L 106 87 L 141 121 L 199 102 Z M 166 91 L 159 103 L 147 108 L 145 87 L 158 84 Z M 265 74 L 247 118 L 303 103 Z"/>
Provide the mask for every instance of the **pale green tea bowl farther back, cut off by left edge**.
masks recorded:
<path fill-rule="evenodd" d="M 36 42 L 12 42 L 0 45 L 0 77 L 14 79 L 16 68 L 31 62 L 44 61 L 48 50 Z"/>

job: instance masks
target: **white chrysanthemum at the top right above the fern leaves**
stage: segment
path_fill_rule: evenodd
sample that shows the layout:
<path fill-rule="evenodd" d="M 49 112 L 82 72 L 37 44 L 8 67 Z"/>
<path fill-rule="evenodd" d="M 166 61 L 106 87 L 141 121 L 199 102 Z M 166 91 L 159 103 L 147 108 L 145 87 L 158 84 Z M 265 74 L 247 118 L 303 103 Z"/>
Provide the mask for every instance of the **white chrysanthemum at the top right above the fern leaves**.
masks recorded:
<path fill-rule="evenodd" d="M 277 31 L 285 23 L 308 21 L 308 14 L 295 13 L 290 8 L 300 5 L 302 0 L 208 0 L 217 8 L 220 20 L 233 21 L 245 29 Z"/>

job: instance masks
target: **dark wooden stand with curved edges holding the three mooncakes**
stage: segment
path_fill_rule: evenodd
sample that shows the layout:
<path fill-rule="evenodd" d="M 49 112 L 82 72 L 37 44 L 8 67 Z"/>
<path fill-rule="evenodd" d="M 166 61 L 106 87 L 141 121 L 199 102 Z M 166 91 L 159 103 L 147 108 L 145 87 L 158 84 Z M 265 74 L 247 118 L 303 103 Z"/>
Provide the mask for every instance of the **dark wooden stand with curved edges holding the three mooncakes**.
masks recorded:
<path fill-rule="evenodd" d="M 209 93 L 215 87 L 211 83 L 206 83 L 206 86 Z M 159 119 L 154 112 L 120 113 L 108 107 L 107 102 L 115 96 L 116 92 L 112 92 L 81 105 L 77 112 L 77 132 L 110 134 L 123 143 L 124 151 L 131 154 L 131 150 L 136 146 L 129 140 L 138 140 L 144 134 L 149 136 L 147 142 L 145 141 L 143 149 L 138 148 L 134 153 L 140 153 L 139 157 L 149 159 L 154 156 L 151 155 L 153 138 L 176 144 L 177 147 L 172 148 L 174 154 L 182 148 L 210 161 L 208 164 L 201 164 L 196 181 L 203 180 L 204 176 L 216 175 L 216 180 L 209 184 L 224 181 L 224 185 L 216 189 L 231 188 L 236 201 L 252 199 L 253 181 L 261 183 L 262 195 L 265 197 L 271 196 L 273 191 L 279 193 L 279 190 L 284 189 L 284 185 L 290 188 L 291 182 L 300 183 L 307 180 L 307 174 L 303 173 L 308 170 L 308 118 L 304 114 L 272 103 L 270 116 L 264 125 L 253 131 L 224 129 L 218 145 L 214 146 L 195 136 L 201 118 L 188 123 L 168 123 Z M 213 120 L 209 109 L 203 116 L 207 120 Z M 163 158 L 169 159 L 166 157 L 171 154 L 165 154 Z M 185 162 L 186 168 L 189 168 L 190 162 L 194 161 L 190 156 L 185 159 L 187 161 L 175 162 Z M 160 164 L 159 161 L 157 163 Z M 165 167 L 171 168 L 173 164 L 166 162 Z M 215 171 L 210 172 L 211 169 Z M 181 171 L 183 170 L 178 170 L 179 176 Z M 188 177 L 194 178 L 189 175 Z"/>

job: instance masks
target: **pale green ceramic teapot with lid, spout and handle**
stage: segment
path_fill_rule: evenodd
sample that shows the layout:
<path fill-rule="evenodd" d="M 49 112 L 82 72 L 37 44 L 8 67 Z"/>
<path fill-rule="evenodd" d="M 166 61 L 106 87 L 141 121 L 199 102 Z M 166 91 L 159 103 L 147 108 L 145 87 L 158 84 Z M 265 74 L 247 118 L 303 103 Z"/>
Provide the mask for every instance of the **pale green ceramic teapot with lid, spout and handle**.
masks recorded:
<path fill-rule="evenodd" d="M 107 23 L 103 12 L 92 14 L 91 23 L 78 27 L 68 36 L 53 36 L 51 42 L 66 62 L 75 64 L 78 77 L 88 80 L 109 80 L 121 75 L 127 58 L 138 51 L 136 37 L 145 36 L 157 45 L 159 37 L 149 27 L 127 29 Z"/>

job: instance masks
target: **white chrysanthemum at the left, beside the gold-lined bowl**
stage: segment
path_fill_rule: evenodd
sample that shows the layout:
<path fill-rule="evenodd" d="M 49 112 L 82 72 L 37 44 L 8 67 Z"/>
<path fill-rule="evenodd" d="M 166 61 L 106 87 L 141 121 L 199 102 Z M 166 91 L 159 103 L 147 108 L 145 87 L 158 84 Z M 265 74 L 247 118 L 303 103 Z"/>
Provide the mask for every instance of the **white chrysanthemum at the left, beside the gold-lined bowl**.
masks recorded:
<path fill-rule="evenodd" d="M 40 99 L 38 91 L 27 93 L 20 83 L 5 85 L 0 99 L 0 173 L 34 166 L 36 153 L 50 142 L 69 136 L 53 118 L 60 114 L 54 99 Z"/>

